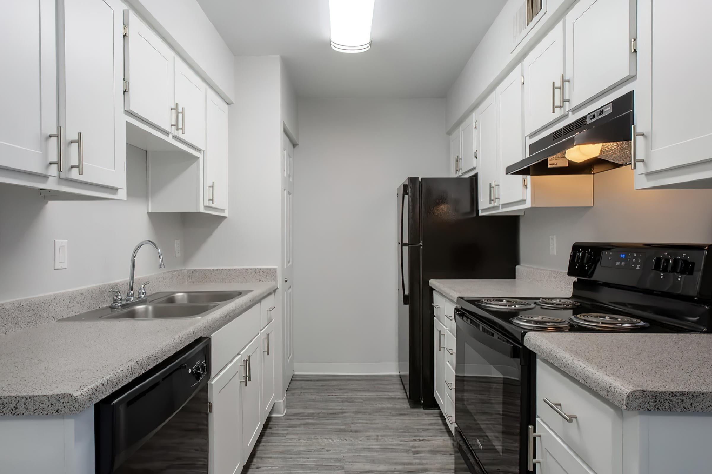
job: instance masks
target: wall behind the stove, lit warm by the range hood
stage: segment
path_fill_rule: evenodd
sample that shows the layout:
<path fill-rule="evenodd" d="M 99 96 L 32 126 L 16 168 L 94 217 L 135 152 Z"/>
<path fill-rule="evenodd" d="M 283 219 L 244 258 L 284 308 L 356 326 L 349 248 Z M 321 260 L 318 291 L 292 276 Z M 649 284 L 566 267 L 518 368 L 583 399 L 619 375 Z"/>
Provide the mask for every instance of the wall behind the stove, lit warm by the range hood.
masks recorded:
<path fill-rule="evenodd" d="M 537 208 L 520 218 L 520 262 L 565 271 L 585 242 L 712 243 L 712 190 L 634 190 L 629 166 L 594 176 L 592 208 Z M 556 255 L 549 236 L 556 235 Z"/>

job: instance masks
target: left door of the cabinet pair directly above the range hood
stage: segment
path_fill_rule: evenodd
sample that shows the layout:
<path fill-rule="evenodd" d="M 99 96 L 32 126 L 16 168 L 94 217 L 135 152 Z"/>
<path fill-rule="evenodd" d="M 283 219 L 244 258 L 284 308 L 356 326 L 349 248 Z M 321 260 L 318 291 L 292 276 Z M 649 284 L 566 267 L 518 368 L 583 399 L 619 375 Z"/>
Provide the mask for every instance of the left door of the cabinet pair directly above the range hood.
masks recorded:
<path fill-rule="evenodd" d="M 599 64 L 601 68 L 604 65 Z M 564 112 L 564 28 L 559 22 L 524 58 L 524 124 L 531 134 L 554 122 Z"/>

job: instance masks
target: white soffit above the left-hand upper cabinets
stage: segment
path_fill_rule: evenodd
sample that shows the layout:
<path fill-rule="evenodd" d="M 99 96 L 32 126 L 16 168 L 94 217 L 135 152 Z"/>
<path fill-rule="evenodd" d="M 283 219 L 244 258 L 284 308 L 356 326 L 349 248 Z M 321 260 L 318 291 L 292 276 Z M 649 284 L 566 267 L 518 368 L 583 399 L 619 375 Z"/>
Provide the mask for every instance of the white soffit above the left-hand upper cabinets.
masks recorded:
<path fill-rule="evenodd" d="M 196 0 L 125 0 L 229 104 L 234 55 Z"/>

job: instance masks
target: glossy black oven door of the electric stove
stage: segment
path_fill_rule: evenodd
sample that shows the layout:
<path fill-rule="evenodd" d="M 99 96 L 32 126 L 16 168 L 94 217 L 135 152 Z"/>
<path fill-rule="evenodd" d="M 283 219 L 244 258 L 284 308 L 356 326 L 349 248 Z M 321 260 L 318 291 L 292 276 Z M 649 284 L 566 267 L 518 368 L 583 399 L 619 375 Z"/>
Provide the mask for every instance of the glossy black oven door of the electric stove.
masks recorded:
<path fill-rule="evenodd" d="M 475 473 L 526 473 L 531 352 L 456 310 L 455 419 L 478 460 Z"/>

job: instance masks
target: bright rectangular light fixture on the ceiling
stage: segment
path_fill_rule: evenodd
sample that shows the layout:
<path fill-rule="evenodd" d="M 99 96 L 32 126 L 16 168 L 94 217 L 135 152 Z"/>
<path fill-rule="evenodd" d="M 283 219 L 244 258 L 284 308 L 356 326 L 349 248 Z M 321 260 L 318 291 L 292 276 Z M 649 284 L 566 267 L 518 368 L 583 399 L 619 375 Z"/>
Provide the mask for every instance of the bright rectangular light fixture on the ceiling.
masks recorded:
<path fill-rule="evenodd" d="M 331 47 L 342 53 L 363 53 L 371 48 L 375 0 L 329 0 Z"/>

